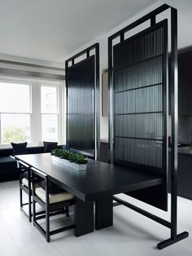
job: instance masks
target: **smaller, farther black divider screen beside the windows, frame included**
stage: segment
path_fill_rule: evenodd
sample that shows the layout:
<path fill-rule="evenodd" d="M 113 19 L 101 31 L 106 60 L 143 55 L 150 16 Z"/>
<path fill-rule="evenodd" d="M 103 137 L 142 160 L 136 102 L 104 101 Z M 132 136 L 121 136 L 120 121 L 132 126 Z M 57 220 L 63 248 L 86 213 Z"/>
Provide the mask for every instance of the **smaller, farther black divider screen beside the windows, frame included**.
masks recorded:
<path fill-rule="evenodd" d="M 67 148 L 98 158 L 98 43 L 66 60 Z M 97 150 L 98 149 L 98 150 Z"/>

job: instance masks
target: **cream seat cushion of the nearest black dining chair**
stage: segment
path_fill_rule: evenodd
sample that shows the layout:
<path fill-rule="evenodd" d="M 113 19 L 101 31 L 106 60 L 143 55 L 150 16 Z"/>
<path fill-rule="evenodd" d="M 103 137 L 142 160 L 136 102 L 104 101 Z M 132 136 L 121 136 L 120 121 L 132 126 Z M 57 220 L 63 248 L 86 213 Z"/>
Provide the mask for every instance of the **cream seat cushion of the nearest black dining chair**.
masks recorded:
<path fill-rule="evenodd" d="M 41 199 L 41 201 L 44 201 L 46 203 L 46 191 L 43 188 L 36 188 L 35 190 L 36 195 Z M 59 201 L 68 201 L 73 199 L 74 196 L 70 194 L 69 192 L 62 192 L 62 193 L 50 193 L 49 194 L 49 199 L 50 199 L 50 204 L 57 203 Z"/>

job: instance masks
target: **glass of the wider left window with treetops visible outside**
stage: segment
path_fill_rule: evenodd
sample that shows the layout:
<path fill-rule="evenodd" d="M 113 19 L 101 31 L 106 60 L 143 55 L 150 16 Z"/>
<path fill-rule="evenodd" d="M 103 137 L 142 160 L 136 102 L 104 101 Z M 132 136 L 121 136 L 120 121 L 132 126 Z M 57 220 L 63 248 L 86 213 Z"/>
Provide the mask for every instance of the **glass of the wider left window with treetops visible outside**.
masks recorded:
<path fill-rule="evenodd" d="M 31 92 L 30 85 L 0 82 L 0 141 L 31 141 Z"/>

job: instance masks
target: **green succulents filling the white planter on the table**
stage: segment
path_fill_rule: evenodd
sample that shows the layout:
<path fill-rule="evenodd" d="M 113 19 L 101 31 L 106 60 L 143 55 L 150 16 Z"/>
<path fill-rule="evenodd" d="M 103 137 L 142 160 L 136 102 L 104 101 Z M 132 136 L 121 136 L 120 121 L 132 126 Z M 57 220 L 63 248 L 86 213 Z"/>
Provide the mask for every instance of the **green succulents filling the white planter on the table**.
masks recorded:
<path fill-rule="evenodd" d="M 82 154 L 71 152 L 67 149 L 59 149 L 55 148 L 51 151 L 51 155 L 59 158 L 66 159 L 72 163 L 76 163 L 78 165 L 85 165 L 87 160 L 85 156 Z"/>

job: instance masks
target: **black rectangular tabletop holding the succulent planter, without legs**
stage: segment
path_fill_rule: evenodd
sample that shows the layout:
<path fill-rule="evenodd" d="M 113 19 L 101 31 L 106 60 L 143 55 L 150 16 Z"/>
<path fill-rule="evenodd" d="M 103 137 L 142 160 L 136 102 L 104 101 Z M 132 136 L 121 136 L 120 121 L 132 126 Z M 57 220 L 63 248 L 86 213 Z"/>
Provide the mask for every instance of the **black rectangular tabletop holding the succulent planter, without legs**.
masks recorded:
<path fill-rule="evenodd" d="M 163 179 L 157 175 L 90 159 L 87 163 L 87 170 L 80 171 L 52 161 L 50 153 L 19 155 L 15 158 L 41 170 L 49 176 L 52 182 L 57 183 L 82 201 L 148 188 L 163 182 Z"/>

